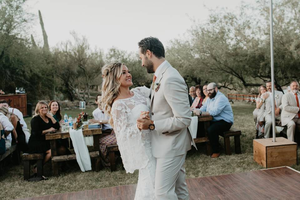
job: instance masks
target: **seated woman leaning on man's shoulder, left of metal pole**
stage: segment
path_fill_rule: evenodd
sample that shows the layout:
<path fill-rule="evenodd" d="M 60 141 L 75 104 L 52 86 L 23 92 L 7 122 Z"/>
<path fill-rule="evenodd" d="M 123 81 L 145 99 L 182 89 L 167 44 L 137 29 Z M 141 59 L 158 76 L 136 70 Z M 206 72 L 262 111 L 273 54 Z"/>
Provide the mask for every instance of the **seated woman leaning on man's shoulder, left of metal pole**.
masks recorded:
<path fill-rule="evenodd" d="M 262 106 L 265 99 L 269 97 L 269 93 L 267 93 L 267 87 L 264 85 L 259 86 L 258 92 L 259 92 L 259 95 L 256 98 L 256 108 L 254 109 L 254 111 L 252 113 L 253 117 L 256 119 L 255 139 L 261 138 L 264 135 L 264 125 L 262 125 L 262 126 L 259 125 L 258 113 L 259 113 L 259 109 Z"/>

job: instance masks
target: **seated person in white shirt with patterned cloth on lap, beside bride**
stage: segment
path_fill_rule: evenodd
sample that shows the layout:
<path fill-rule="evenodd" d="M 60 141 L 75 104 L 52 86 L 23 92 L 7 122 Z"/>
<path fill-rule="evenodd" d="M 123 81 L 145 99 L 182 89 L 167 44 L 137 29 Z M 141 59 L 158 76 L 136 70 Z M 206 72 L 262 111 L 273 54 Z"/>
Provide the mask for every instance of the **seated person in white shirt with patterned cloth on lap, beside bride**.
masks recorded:
<path fill-rule="evenodd" d="M 104 114 L 101 110 L 101 95 L 98 94 L 95 103 L 98 105 L 98 108 L 93 111 L 93 116 L 95 119 L 91 119 L 92 123 L 101 123 L 102 124 L 102 137 L 99 139 L 100 151 L 104 157 L 101 159 L 101 163 L 104 167 L 110 166 L 110 160 L 107 151 L 107 145 L 117 144 L 116 134 L 113 131 L 113 128 L 109 124 L 109 117 Z M 100 136 L 101 136 L 100 135 Z"/>

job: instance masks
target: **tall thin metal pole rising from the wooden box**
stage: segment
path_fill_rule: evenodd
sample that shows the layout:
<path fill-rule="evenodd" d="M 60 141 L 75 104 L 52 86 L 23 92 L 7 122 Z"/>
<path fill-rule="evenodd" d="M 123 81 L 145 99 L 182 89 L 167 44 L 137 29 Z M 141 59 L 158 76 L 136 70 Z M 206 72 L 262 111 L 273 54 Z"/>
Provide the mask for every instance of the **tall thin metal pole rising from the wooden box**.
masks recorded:
<path fill-rule="evenodd" d="M 273 3 L 270 0 L 270 44 L 271 44 L 271 80 L 272 80 L 272 130 L 273 130 L 273 142 L 276 142 L 275 134 L 275 82 L 274 82 L 274 48 L 273 48 Z"/>

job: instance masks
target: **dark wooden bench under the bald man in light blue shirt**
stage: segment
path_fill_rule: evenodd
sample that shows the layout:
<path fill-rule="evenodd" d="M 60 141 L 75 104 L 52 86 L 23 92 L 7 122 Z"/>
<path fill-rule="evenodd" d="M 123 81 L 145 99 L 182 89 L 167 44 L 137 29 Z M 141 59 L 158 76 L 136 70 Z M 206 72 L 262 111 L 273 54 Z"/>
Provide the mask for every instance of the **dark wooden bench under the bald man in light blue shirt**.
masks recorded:
<path fill-rule="evenodd" d="M 230 151 L 230 137 L 234 137 L 234 149 L 235 153 L 240 154 L 241 151 L 241 140 L 240 136 L 242 135 L 240 130 L 237 130 L 236 128 L 230 128 L 229 131 L 225 131 L 224 133 L 220 134 L 224 138 L 224 148 L 225 148 L 225 154 L 231 155 Z"/>

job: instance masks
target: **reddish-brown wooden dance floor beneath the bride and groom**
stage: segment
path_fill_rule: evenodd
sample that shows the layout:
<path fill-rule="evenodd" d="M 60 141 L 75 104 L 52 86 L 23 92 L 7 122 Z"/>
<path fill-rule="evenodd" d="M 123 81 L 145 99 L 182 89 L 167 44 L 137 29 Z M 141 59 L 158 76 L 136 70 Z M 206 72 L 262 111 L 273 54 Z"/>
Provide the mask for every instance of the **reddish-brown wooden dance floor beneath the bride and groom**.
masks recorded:
<path fill-rule="evenodd" d="M 191 200 L 300 199 L 300 172 L 289 167 L 256 170 L 220 176 L 190 178 Z M 81 192 L 70 192 L 26 200 L 133 200 L 136 185 L 124 185 Z"/>

